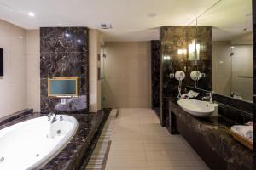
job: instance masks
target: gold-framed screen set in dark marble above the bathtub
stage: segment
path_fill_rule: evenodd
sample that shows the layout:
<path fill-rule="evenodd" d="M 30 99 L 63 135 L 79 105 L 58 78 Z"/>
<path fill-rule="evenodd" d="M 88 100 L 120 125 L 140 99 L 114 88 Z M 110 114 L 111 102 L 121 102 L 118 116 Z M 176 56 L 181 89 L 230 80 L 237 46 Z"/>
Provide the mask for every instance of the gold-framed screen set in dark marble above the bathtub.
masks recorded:
<path fill-rule="evenodd" d="M 55 98 L 78 97 L 79 77 L 54 77 L 48 79 L 48 96 Z"/>

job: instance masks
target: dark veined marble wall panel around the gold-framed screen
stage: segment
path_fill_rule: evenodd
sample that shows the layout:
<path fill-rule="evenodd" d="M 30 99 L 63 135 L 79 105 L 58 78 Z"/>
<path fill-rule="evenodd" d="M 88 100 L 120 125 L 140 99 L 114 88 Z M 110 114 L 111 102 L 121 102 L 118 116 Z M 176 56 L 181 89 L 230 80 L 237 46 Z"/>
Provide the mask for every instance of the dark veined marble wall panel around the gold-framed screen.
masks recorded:
<path fill-rule="evenodd" d="M 48 97 L 48 77 L 79 77 L 79 98 L 67 103 L 67 112 L 88 111 L 89 57 L 86 27 L 40 28 L 41 111 L 56 111 L 61 99 Z M 79 109 L 77 109 L 79 105 Z"/>

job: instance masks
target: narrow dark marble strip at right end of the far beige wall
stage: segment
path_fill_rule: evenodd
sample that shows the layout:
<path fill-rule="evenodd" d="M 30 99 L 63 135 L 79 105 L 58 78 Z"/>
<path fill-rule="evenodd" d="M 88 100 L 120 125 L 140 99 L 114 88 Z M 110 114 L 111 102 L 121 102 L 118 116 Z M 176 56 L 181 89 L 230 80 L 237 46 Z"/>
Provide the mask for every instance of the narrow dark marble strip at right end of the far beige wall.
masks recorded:
<path fill-rule="evenodd" d="M 151 41 L 152 108 L 160 107 L 160 41 Z"/>

